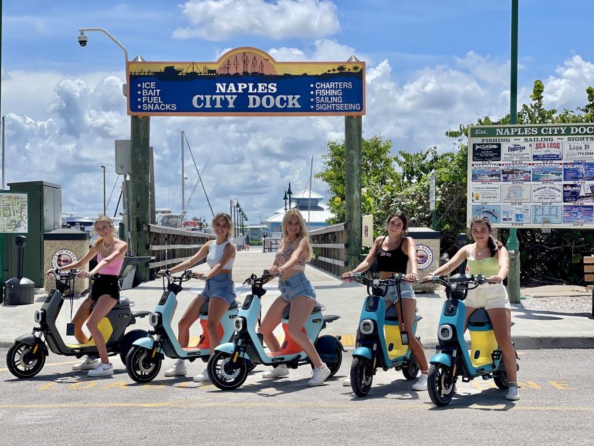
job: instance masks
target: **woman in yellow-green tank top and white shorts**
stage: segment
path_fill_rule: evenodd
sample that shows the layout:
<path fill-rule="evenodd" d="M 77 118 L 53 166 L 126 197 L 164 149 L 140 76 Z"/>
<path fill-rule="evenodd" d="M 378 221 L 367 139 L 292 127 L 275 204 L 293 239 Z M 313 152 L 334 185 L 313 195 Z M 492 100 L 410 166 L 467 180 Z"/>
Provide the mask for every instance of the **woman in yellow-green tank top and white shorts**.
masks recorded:
<path fill-rule="evenodd" d="M 464 305 L 466 306 L 466 324 L 469 316 L 477 308 L 487 310 L 495 337 L 501 348 L 503 364 L 509 380 L 507 399 L 519 399 L 515 351 L 511 341 L 511 307 L 506 287 L 501 283 L 508 275 L 509 259 L 507 249 L 499 240 L 491 236 L 491 222 L 487 217 L 474 217 L 470 222 L 470 232 L 474 243 L 460 248 L 448 263 L 440 266 L 432 274 L 423 277 L 423 282 L 434 275 L 449 274 L 460 263 L 467 260 L 471 275 L 483 275 L 493 284 L 482 284 L 469 290 Z"/>

